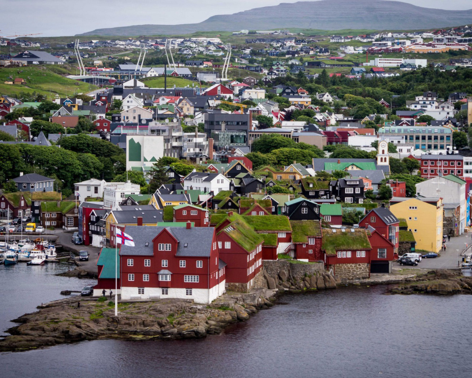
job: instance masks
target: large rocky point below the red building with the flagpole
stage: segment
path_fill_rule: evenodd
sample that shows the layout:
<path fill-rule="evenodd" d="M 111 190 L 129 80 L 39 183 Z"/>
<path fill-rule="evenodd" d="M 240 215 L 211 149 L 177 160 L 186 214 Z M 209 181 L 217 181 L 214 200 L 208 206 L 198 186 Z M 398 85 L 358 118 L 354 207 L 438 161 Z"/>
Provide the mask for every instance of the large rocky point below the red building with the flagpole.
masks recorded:
<path fill-rule="evenodd" d="M 51 302 L 25 314 L 0 340 L 0 352 L 25 351 L 56 344 L 98 338 L 128 340 L 200 338 L 216 335 L 260 309 L 272 306 L 268 299 L 277 291 L 228 292 L 210 306 L 185 300 L 114 303 L 72 297 Z M 77 303 L 80 301 L 80 308 Z"/>

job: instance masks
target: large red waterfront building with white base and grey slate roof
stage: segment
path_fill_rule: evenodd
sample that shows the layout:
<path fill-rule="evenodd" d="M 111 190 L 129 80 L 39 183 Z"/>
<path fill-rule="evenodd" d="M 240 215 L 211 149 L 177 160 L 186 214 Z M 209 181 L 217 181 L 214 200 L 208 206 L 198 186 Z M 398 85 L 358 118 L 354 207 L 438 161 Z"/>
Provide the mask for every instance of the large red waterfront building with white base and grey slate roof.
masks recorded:
<path fill-rule="evenodd" d="M 121 298 L 178 298 L 210 304 L 225 292 L 226 264 L 214 228 L 126 226 L 135 247 L 121 245 Z"/>

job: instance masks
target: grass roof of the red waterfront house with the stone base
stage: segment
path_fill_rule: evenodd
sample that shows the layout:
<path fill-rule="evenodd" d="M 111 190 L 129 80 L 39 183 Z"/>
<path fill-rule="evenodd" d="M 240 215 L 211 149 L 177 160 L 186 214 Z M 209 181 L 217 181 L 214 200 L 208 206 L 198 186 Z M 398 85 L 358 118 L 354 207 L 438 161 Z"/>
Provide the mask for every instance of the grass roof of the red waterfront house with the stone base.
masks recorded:
<path fill-rule="evenodd" d="M 351 232 L 347 229 L 342 230 L 323 230 L 323 239 L 321 249 L 324 249 L 327 255 L 336 255 L 338 250 L 358 250 L 371 249 L 371 243 L 367 233 L 363 229 L 355 229 Z"/>

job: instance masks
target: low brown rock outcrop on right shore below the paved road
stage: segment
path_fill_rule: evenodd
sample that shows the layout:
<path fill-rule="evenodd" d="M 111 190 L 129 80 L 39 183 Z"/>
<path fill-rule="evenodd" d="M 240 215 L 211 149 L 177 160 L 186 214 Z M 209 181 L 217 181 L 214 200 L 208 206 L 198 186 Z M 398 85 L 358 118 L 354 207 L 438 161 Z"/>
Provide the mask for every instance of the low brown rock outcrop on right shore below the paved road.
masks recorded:
<path fill-rule="evenodd" d="M 388 289 L 392 294 L 472 294 L 472 277 L 464 277 L 457 270 L 431 270 L 425 275 L 408 278 L 404 283 Z"/>

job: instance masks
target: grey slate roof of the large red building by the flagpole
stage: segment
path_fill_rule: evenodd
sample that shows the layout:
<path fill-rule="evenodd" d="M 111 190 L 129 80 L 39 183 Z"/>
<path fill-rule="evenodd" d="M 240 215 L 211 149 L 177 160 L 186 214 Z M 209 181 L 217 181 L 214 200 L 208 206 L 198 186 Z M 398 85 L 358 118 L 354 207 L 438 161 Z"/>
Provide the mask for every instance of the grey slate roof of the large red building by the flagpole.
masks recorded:
<path fill-rule="evenodd" d="M 215 232 L 213 227 L 187 229 L 186 227 L 126 226 L 125 232 L 133 238 L 135 247 L 122 245 L 120 255 L 152 256 L 152 240 L 164 229 L 167 229 L 179 242 L 176 256 L 210 257 Z M 145 247 L 146 242 L 149 242 L 148 247 Z"/>

